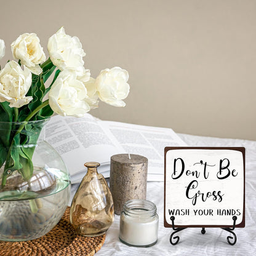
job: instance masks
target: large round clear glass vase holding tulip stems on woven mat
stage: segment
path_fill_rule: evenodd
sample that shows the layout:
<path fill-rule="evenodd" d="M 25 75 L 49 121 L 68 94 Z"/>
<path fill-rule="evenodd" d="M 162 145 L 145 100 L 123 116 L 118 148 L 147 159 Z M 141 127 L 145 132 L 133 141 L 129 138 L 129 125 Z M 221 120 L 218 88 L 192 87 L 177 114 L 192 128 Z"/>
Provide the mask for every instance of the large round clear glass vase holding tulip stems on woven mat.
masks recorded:
<path fill-rule="evenodd" d="M 47 121 L 0 122 L 2 241 L 43 236 L 68 205 L 70 176 L 60 155 L 44 140 Z"/>

